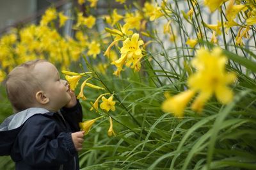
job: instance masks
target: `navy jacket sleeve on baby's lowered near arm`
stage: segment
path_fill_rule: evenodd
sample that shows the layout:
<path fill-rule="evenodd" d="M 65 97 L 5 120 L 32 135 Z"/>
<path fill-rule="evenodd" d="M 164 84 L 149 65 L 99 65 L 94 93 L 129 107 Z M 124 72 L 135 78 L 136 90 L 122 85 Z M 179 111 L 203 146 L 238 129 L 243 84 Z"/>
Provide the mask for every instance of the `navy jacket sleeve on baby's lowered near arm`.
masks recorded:
<path fill-rule="evenodd" d="M 42 115 L 32 116 L 24 123 L 18 140 L 20 155 L 33 166 L 64 164 L 77 153 L 71 133 L 57 135 L 56 122 Z"/>

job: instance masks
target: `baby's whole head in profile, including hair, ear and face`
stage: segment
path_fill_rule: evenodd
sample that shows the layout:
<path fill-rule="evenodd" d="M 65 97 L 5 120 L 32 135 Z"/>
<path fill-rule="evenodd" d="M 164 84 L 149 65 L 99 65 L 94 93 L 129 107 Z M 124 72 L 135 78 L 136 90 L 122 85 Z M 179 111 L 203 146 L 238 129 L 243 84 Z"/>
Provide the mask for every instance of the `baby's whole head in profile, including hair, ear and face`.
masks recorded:
<path fill-rule="evenodd" d="M 69 90 L 57 68 L 41 59 L 15 67 L 6 79 L 6 92 L 15 111 L 29 107 L 58 111 L 70 101 Z"/>

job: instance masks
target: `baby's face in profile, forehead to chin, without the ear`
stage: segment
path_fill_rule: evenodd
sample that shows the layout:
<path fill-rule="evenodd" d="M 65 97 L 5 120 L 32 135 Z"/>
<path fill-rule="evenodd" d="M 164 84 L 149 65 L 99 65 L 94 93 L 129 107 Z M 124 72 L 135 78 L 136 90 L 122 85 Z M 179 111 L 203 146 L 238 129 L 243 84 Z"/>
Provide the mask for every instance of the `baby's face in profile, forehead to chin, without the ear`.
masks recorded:
<path fill-rule="evenodd" d="M 53 109 L 58 111 L 70 102 L 69 85 L 67 81 L 60 79 L 60 74 L 54 65 L 49 62 L 38 63 L 35 65 L 33 72 L 36 79 L 40 81 L 45 97 L 49 98 L 49 104 Z"/>

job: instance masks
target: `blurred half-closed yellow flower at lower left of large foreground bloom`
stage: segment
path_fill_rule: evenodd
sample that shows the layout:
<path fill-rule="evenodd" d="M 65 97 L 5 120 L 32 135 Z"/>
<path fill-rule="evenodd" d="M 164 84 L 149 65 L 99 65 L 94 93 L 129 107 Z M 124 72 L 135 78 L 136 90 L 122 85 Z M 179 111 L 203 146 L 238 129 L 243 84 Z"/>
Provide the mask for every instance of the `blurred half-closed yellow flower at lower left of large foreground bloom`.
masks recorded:
<path fill-rule="evenodd" d="M 173 97 L 168 97 L 163 102 L 161 108 L 164 112 L 172 112 L 174 116 L 181 118 L 183 117 L 186 105 L 188 105 L 193 95 L 195 95 L 195 91 L 187 90 Z"/>

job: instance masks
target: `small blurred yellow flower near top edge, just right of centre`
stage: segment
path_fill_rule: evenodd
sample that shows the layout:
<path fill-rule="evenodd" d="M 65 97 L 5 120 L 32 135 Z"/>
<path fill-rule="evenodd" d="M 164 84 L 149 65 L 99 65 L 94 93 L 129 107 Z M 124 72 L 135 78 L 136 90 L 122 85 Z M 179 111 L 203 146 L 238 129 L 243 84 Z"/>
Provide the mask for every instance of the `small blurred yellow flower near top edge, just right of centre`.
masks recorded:
<path fill-rule="evenodd" d="M 149 18 L 149 20 L 155 20 L 164 15 L 159 6 L 155 7 L 148 2 L 144 4 L 143 12 L 145 12 L 145 15 Z"/>

